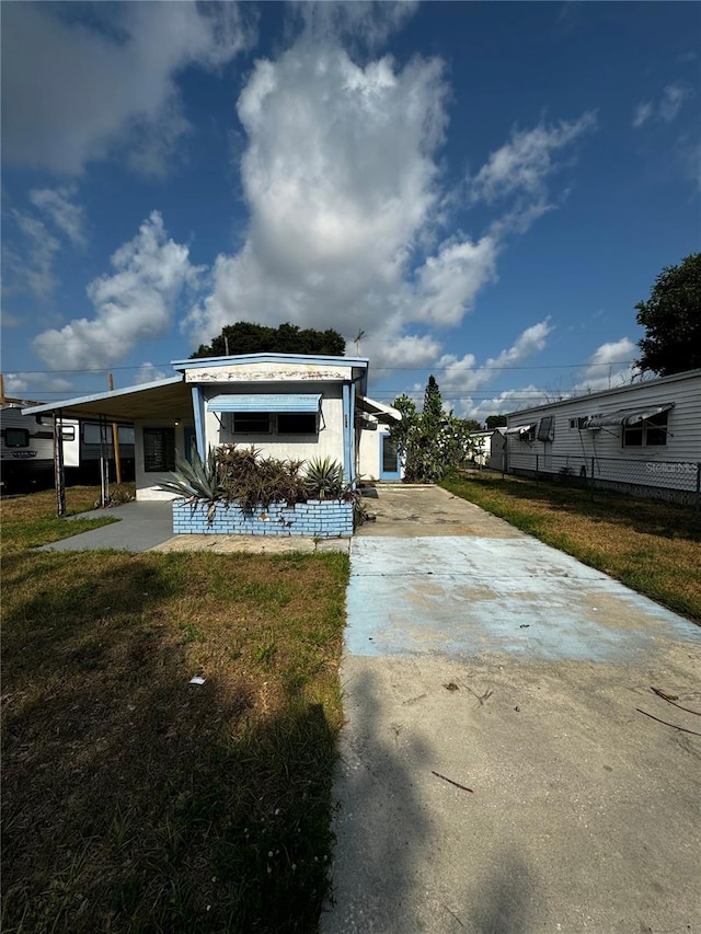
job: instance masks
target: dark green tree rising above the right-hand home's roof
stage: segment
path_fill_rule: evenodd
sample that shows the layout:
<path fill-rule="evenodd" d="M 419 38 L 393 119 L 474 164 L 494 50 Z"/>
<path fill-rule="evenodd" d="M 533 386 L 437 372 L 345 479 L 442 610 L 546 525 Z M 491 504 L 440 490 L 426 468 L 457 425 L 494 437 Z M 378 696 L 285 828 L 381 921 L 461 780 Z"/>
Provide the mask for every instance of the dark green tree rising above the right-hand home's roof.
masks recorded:
<path fill-rule="evenodd" d="M 701 253 L 665 266 L 647 301 L 639 302 L 641 370 L 660 377 L 701 367 Z"/>

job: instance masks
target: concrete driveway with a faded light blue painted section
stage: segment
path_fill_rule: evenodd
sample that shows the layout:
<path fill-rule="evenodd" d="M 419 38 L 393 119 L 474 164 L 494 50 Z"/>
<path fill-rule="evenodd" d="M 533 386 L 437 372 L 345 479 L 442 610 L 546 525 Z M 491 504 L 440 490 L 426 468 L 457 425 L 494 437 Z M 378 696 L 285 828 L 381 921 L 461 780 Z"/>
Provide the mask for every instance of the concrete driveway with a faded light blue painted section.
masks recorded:
<path fill-rule="evenodd" d="M 700 932 L 701 630 L 445 491 L 368 506 L 322 934 Z"/>

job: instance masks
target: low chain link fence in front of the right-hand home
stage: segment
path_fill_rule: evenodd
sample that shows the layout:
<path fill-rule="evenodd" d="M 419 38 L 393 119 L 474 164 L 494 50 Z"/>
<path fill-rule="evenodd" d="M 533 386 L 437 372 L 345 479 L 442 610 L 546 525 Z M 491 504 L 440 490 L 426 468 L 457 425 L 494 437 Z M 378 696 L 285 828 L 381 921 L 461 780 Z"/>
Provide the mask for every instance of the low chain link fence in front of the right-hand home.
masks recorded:
<path fill-rule="evenodd" d="M 507 454 L 502 473 L 590 489 L 614 489 L 693 506 L 701 515 L 701 462 L 600 458 L 587 454 Z"/>

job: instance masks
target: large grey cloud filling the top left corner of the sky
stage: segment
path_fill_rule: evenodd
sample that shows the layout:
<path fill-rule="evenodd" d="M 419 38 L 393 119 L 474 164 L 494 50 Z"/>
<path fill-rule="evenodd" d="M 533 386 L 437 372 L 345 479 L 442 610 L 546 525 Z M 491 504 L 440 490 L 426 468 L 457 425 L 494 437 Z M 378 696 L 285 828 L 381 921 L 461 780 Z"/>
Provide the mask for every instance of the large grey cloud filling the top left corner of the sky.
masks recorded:
<path fill-rule="evenodd" d="M 78 174 L 115 145 L 149 149 L 140 168 L 163 168 L 153 129 L 171 142 L 180 115 L 177 73 L 216 68 L 250 35 L 234 3 L 93 4 L 92 25 L 69 21 L 60 4 L 2 9 L 3 155 L 15 164 Z M 154 39 L 154 37 L 157 37 Z M 146 161 L 143 161 L 146 160 Z"/>

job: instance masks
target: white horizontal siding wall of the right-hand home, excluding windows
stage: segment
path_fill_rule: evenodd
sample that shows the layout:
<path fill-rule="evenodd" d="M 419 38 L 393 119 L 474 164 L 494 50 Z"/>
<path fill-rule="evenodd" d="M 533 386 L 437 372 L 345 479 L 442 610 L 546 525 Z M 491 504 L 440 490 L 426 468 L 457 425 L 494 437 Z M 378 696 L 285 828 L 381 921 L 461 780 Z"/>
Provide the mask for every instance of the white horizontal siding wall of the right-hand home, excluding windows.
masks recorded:
<path fill-rule="evenodd" d="M 621 424 L 591 430 L 579 427 L 577 422 L 581 418 L 628 408 L 670 403 L 674 403 L 674 407 L 667 416 L 666 441 L 663 445 L 627 446 Z M 540 419 L 547 416 L 554 418 L 552 441 L 508 436 L 509 470 L 532 470 L 535 454 L 538 454 L 539 468 L 542 471 L 558 472 L 563 465 L 563 458 L 567 458 L 578 473 L 579 465 L 585 465 L 590 471 L 594 459 L 596 474 L 619 478 L 616 465 L 607 463 L 607 459 L 627 459 L 641 464 L 635 482 L 648 482 L 651 486 L 676 487 L 679 481 L 675 472 L 655 469 L 655 463 L 701 461 L 700 370 L 522 410 L 508 416 L 508 427 L 538 426 Z M 620 480 L 623 481 L 625 477 L 622 465 L 619 470 Z"/>

